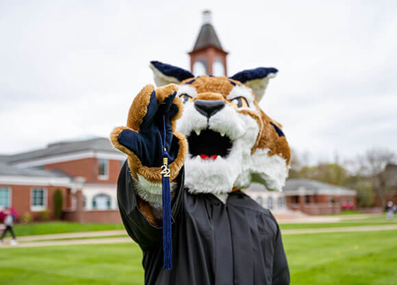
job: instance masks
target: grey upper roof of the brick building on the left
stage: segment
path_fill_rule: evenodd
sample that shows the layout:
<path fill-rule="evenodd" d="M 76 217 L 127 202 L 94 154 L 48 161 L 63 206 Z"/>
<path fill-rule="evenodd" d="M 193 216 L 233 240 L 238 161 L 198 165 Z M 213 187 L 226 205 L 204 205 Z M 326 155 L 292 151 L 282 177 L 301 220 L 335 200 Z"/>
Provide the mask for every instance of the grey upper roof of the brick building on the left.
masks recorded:
<path fill-rule="evenodd" d="M 59 141 L 57 143 L 49 144 L 47 148 L 40 150 L 32 150 L 29 152 L 21 152 L 18 154 L 5 157 L 5 161 L 14 164 L 21 161 L 29 161 L 33 159 L 43 159 L 46 157 L 53 157 L 60 154 L 68 154 L 73 152 L 81 152 L 86 150 L 111 152 L 120 154 L 110 144 L 109 139 L 105 137 L 96 137 L 94 139 L 77 140 L 77 141 Z M 0 158 L 1 159 L 1 158 Z"/>

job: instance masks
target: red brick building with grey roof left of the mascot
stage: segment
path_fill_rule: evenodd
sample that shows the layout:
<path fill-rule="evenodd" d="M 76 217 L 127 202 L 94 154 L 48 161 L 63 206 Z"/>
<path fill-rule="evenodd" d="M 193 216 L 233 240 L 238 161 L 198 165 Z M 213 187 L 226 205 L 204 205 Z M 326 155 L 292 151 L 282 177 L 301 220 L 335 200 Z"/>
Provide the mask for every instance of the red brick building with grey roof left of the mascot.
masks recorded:
<path fill-rule="evenodd" d="M 62 141 L 47 148 L 1 156 L 0 207 L 20 214 L 53 217 L 53 193 L 62 191 L 64 219 L 120 221 L 116 200 L 118 172 L 125 155 L 107 138 Z"/>

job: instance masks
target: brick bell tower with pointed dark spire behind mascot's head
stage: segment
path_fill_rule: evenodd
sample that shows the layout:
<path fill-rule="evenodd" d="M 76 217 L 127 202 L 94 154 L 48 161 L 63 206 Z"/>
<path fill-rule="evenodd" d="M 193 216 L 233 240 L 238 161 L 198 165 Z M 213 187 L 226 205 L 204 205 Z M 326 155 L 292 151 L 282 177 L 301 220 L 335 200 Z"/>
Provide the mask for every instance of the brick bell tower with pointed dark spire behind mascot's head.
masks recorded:
<path fill-rule="evenodd" d="M 212 26 L 212 13 L 209 10 L 203 11 L 203 25 L 193 50 L 189 53 L 190 70 L 196 77 L 203 74 L 227 76 L 227 54 Z"/>

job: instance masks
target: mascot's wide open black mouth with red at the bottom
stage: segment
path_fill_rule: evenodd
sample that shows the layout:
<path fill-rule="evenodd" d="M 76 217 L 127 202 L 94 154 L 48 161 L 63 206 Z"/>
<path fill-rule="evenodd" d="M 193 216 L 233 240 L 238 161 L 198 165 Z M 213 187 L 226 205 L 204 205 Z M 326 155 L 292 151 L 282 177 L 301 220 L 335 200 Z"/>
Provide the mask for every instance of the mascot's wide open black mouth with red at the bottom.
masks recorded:
<path fill-rule="evenodd" d="M 209 130 L 196 131 L 188 136 L 189 154 L 191 157 L 199 156 L 201 159 L 215 160 L 225 158 L 233 146 L 231 139 L 218 132 Z"/>

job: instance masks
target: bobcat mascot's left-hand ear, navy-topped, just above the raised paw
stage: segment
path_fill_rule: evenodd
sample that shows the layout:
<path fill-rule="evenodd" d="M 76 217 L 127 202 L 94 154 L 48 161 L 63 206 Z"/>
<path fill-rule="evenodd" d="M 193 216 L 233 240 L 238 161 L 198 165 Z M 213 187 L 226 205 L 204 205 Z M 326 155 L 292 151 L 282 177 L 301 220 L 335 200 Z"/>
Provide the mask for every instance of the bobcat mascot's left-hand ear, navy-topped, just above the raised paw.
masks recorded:
<path fill-rule="evenodd" d="M 153 70 L 153 77 L 157 87 L 170 83 L 179 83 L 185 79 L 194 77 L 188 70 L 170 66 L 169 64 L 163 64 L 162 62 L 153 61 L 149 64 L 149 67 Z"/>

